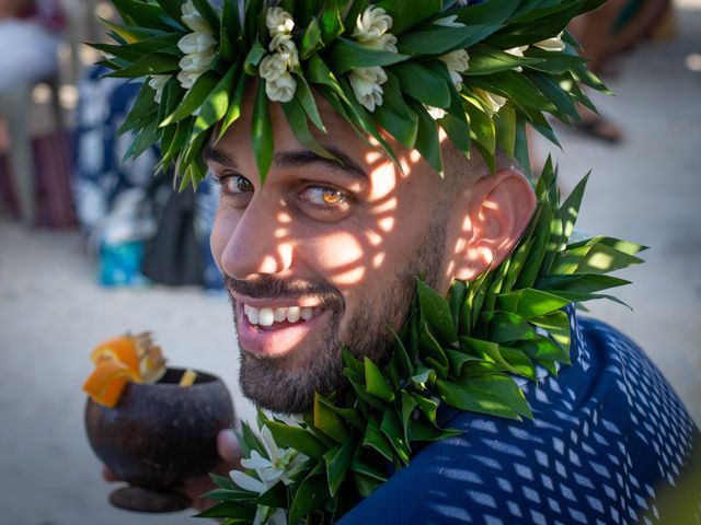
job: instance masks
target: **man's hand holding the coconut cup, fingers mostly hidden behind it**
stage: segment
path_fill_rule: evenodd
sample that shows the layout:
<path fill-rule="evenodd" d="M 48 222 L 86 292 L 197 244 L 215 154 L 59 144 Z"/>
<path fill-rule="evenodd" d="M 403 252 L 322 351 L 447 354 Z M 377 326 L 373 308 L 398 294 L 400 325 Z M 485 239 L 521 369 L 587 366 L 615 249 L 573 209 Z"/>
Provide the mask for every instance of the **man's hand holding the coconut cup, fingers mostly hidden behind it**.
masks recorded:
<path fill-rule="evenodd" d="M 233 431 L 226 429 L 219 432 L 219 435 L 217 435 L 217 452 L 221 457 L 221 463 L 212 470 L 214 474 L 228 476 L 230 470 L 241 468 L 243 453 Z M 106 481 L 122 481 L 107 467 L 102 467 L 102 476 Z M 214 500 L 207 500 L 202 495 L 216 488 L 208 475 L 188 479 L 183 485 L 174 487 L 175 490 L 189 498 L 193 509 L 197 511 L 204 511 L 215 504 Z"/>

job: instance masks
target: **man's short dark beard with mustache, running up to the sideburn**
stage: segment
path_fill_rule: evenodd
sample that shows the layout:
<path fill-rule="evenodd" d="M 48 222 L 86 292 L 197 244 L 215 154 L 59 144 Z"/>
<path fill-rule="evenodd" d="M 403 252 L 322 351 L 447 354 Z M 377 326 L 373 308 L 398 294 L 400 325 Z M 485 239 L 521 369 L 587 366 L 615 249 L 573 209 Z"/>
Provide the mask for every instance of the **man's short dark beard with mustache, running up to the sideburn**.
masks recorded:
<path fill-rule="evenodd" d="M 346 347 L 358 359 L 368 357 L 378 364 L 387 363 L 393 349 L 393 330 L 401 328 L 414 298 L 415 277 L 426 276 L 428 284 L 436 285 L 446 242 L 445 221 L 436 219 L 421 237 L 410 265 L 394 275 L 379 304 L 360 302 L 343 336 L 340 325 L 345 303 L 341 292 L 327 282 L 280 281 L 269 276 L 241 281 L 226 276 L 230 291 L 265 299 L 313 296 L 332 311 L 322 342 L 307 352 L 307 362 L 296 370 L 287 366 L 287 355 L 253 355 L 241 350 L 239 381 L 243 395 L 278 413 L 302 413 L 312 409 L 314 393 L 329 395 L 348 387 L 343 375 L 342 348 Z M 237 324 L 235 305 L 232 306 Z"/>

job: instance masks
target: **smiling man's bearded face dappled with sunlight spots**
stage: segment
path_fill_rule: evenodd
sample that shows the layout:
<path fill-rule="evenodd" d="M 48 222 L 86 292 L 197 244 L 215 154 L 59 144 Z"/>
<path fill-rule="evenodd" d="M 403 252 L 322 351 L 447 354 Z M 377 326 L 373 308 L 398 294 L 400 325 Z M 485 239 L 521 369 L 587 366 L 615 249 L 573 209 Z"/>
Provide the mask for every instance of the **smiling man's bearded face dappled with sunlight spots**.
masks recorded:
<path fill-rule="evenodd" d="M 402 174 L 324 101 L 319 106 L 327 135 L 318 139 L 343 165 L 300 145 L 278 104 L 264 185 L 250 114 L 206 152 L 221 185 L 211 249 L 232 298 L 241 387 L 279 412 L 309 410 L 314 392 L 344 386 L 343 347 L 387 358 L 415 276 L 448 282 L 446 183 L 416 152 L 395 148 Z"/>

